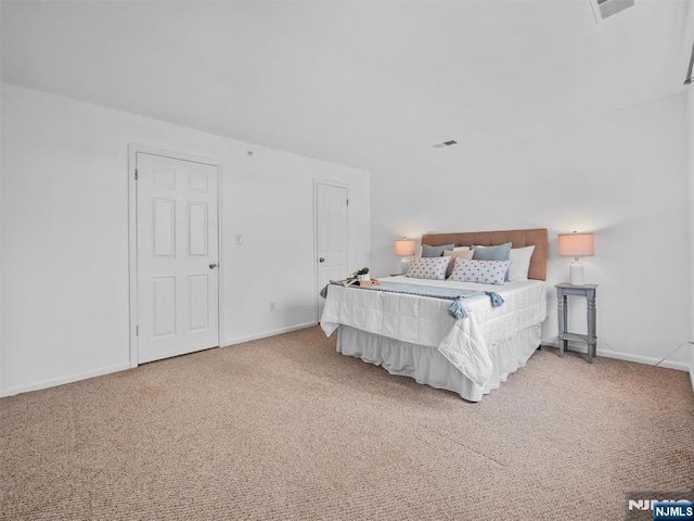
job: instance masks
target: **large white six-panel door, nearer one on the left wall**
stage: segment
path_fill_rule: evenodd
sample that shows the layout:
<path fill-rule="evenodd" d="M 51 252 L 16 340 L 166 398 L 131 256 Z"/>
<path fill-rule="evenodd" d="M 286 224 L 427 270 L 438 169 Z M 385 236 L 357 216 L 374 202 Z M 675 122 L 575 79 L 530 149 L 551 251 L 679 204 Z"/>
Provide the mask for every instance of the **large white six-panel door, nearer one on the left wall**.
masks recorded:
<path fill-rule="evenodd" d="M 137 153 L 138 361 L 219 345 L 217 167 Z"/>

